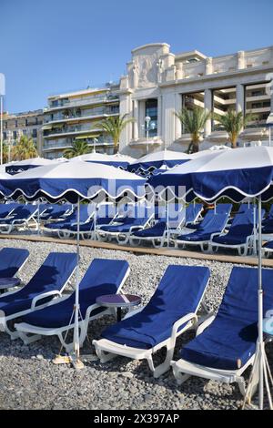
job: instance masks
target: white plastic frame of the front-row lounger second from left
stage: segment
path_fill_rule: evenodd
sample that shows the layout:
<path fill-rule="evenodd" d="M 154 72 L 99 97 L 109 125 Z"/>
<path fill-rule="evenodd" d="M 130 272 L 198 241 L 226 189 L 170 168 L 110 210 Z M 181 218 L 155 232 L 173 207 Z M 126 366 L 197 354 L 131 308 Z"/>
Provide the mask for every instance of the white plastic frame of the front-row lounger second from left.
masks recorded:
<path fill-rule="evenodd" d="M 55 297 L 59 297 L 60 298 L 62 296 L 63 291 L 66 289 L 66 286 L 71 284 L 71 279 L 72 279 L 72 277 L 73 277 L 73 275 L 75 273 L 75 270 L 76 270 L 76 267 L 72 271 L 72 273 L 69 276 L 69 278 L 66 280 L 66 282 L 63 285 L 63 287 L 62 287 L 61 290 L 46 291 L 45 293 L 41 293 L 41 294 L 35 296 L 35 298 L 31 302 L 31 307 L 29 309 L 27 309 L 25 311 L 15 312 L 15 313 L 13 313 L 11 315 L 7 315 L 7 316 L 5 316 L 5 311 L 0 310 L 0 331 L 4 331 L 7 334 L 9 334 L 12 341 L 14 341 L 15 339 L 17 339 L 19 337 L 18 331 L 12 331 L 12 330 L 10 330 L 10 328 L 7 326 L 7 322 L 15 320 L 16 318 L 22 317 L 24 315 L 27 315 L 30 312 L 43 309 L 46 306 L 48 306 L 49 304 L 52 304 L 52 301 L 49 301 L 49 302 L 47 302 L 47 303 L 45 303 L 43 305 L 36 306 L 36 304 L 37 304 L 38 301 L 41 301 L 41 300 L 45 299 L 46 297 L 53 296 L 53 299 Z M 1 296 L 0 296 L 0 302 L 1 302 L 2 298 L 5 298 L 5 296 L 8 296 L 10 294 L 16 293 L 16 291 L 18 291 L 18 290 L 16 289 L 16 290 L 8 291 L 8 292 L 6 292 L 4 294 L 1 294 Z"/>

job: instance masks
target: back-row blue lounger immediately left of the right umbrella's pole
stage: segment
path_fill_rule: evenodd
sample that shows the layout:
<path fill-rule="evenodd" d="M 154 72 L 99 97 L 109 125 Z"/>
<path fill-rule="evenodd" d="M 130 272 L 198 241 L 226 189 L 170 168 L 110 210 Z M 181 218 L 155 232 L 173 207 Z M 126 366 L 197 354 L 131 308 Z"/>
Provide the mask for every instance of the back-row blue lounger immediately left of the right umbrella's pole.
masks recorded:
<path fill-rule="evenodd" d="M 261 215 L 263 218 L 265 215 L 264 209 L 262 209 Z M 252 209 L 248 209 L 245 212 L 237 214 L 227 233 L 218 235 L 211 239 L 209 249 L 216 251 L 218 248 L 238 250 L 239 256 L 247 256 L 248 250 L 253 248 L 253 239 L 255 239 L 254 232 L 257 226 L 258 216 L 255 225 Z"/>

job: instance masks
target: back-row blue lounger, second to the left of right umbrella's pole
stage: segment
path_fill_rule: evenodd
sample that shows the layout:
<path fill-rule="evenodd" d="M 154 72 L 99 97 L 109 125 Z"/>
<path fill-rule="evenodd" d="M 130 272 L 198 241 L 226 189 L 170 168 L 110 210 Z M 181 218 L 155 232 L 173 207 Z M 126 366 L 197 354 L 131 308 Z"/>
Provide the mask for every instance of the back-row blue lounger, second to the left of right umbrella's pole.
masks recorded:
<path fill-rule="evenodd" d="M 207 219 L 207 217 L 209 219 Z M 176 248 L 185 247 L 187 245 L 197 245 L 202 251 L 205 246 L 216 235 L 220 235 L 227 225 L 228 214 L 215 214 L 211 215 L 208 212 L 205 219 L 200 223 L 197 230 L 191 233 L 185 233 L 174 239 Z"/>

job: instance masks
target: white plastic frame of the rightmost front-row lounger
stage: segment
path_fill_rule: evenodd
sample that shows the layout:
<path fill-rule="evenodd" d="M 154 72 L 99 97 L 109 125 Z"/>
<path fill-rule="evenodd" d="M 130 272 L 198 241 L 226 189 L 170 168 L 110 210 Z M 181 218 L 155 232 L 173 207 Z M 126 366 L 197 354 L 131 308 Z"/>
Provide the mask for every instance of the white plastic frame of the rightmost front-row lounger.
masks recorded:
<path fill-rule="evenodd" d="M 201 334 L 207 327 L 215 320 L 215 316 L 209 317 L 197 329 L 197 336 Z M 225 331 L 223 331 L 225 334 Z M 249 365 L 253 365 L 255 354 L 249 358 L 248 362 L 238 370 L 220 370 L 211 367 L 202 366 L 193 362 L 187 362 L 180 359 L 177 362 L 171 362 L 173 373 L 177 379 L 178 384 L 186 382 L 190 376 L 197 376 L 217 382 L 225 383 L 238 383 L 239 391 L 242 395 L 246 393 L 245 379 L 242 376 L 243 372 L 248 369 Z"/>

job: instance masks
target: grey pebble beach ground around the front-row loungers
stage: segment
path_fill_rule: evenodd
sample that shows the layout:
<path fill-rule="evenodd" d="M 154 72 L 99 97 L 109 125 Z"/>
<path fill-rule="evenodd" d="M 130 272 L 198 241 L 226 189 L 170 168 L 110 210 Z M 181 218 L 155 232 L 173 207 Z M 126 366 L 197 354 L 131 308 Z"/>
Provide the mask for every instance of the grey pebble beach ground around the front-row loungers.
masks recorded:
<path fill-rule="evenodd" d="M 21 272 L 24 281 L 32 277 L 51 250 L 74 250 L 63 244 L 10 239 L 2 240 L 1 246 L 30 250 L 30 258 Z M 211 280 L 205 303 L 212 310 L 217 310 L 232 269 L 231 264 L 207 260 L 136 256 L 123 251 L 82 248 L 81 276 L 95 257 L 127 260 L 131 273 L 124 290 L 141 295 L 143 303 L 154 293 L 169 264 L 208 266 Z M 90 323 L 90 341 L 99 338 L 100 331 L 114 321 L 108 316 Z M 175 359 L 183 342 L 192 337 L 189 332 L 178 339 Z M 10 341 L 5 333 L 0 333 L 0 409 L 238 409 L 242 404 L 237 385 L 190 378 L 177 386 L 171 371 L 155 380 L 147 362 L 125 358 L 106 364 L 86 362 L 79 372 L 66 365 L 56 366 L 51 360 L 59 349 L 56 338 L 45 338 L 25 346 L 22 341 Z M 94 349 L 86 341 L 83 353 L 89 352 Z"/>

